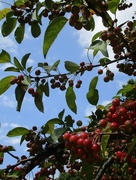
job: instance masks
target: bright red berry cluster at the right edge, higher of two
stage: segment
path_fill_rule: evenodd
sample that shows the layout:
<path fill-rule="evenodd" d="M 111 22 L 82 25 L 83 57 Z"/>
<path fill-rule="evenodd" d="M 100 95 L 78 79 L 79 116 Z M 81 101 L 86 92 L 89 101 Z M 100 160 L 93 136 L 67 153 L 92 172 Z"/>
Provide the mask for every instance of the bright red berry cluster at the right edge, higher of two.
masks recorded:
<path fill-rule="evenodd" d="M 99 127 L 107 125 L 112 131 L 123 131 L 133 134 L 136 130 L 136 101 L 126 100 L 121 104 L 119 99 L 114 99 L 104 119 L 98 123 Z"/>

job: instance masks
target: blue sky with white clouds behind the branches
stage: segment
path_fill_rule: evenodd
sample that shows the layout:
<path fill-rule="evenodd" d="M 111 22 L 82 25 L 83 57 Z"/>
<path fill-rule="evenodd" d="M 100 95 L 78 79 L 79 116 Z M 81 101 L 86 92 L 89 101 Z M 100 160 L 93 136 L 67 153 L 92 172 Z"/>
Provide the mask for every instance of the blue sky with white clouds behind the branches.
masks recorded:
<path fill-rule="evenodd" d="M 13 1 L 7 0 L 6 2 L 12 3 Z M 7 5 L 0 3 L 0 9 Z M 133 9 L 136 9 L 136 4 L 134 4 Z M 117 18 L 119 18 L 119 23 L 129 20 L 133 16 L 133 10 L 128 9 L 124 15 L 118 13 Z M 122 13 L 122 12 L 121 12 Z M 127 16 L 126 16 L 127 15 Z M 44 23 L 42 32 L 44 32 L 46 24 Z M 2 22 L 0 22 L 2 25 Z M 101 20 L 96 19 L 96 31 L 104 29 L 101 25 Z M 0 51 L 2 49 L 8 51 L 12 57 L 17 57 L 21 59 L 23 55 L 27 53 L 32 53 L 29 59 L 29 65 L 34 65 L 38 62 L 47 61 L 49 64 L 53 64 L 56 60 L 61 60 L 60 72 L 64 72 L 63 65 L 64 61 L 75 61 L 80 63 L 81 61 L 88 62 L 85 48 L 90 45 L 91 37 L 95 32 L 87 32 L 85 30 L 76 31 L 74 28 L 70 27 L 68 24 L 64 27 L 62 32 L 59 34 L 58 38 L 54 42 L 53 46 L 49 50 L 47 58 L 43 58 L 42 54 L 42 41 L 43 34 L 34 39 L 30 33 L 30 27 L 26 27 L 25 38 L 22 44 L 17 44 L 14 40 L 13 34 L 8 37 L 3 38 L 0 33 Z M 111 59 L 113 54 L 111 49 L 109 49 L 109 54 Z M 94 64 L 97 64 L 98 58 L 102 57 L 101 54 L 98 54 L 95 58 Z M 91 58 L 91 54 L 90 54 Z M 0 64 L 0 79 L 8 73 L 4 72 L 3 69 L 5 65 Z M 98 89 L 100 94 L 99 104 L 107 104 L 111 101 L 111 98 L 116 94 L 116 92 L 121 88 L 122 84 L 125 84 L 130 78 L 127 75 L 120 74 L 117 72 L 115 65 L 111 65 L 110 69 L 115 73 L 115 80 L 113 82 L 104 83 L 103 75 L 99 77 Z M 94 107 L 89 105 L 86 100 L 86 93 L 88 91 L 89 83 L 91 79 L 97 75 L 97 70 L 95 69 L 92 72 L 86 73 L 81 79 L 83 80 L 83 85 L 81 89 L 76 89 L 77 94 L 77 105 L 78 113 L 75 115 L 72 113 L 65 102 L 65 92 L 61 92 L 58 89 L 51 90 L 51 95 L 49 98 L 44 98 L 45 113 L 40 113 L 33 103 L 33 98 L 30 95 L 27 95 L 24 99 L 21 112 L 16 111 L 16 101 L 14 97 L 14 88 L 11 87 L 6 93 L 0 96 L 0 144 L 13 145 L 18 149 L 18 154 L 26 153 L 25 146 L 19 147 L 20 138 L 7 138 L 7 132 L 17 126 L 24 126 L 31 128 L 33 125 L 40 127 L 47 120 L 54 118 L 58 113 L 65 108 L 65 115 L 70 114 L 75 120 L 83 120 L 87 122 L 88 120 L 84 117 L 89 115 Z M 5 161 L 5 164 L 7 160 Z M 8 159 L 9 163 L 9 159 Z M 13 161 L 11 161 L 11 164 Z M 1 168 L 1 167 L 0 167 Z"/>

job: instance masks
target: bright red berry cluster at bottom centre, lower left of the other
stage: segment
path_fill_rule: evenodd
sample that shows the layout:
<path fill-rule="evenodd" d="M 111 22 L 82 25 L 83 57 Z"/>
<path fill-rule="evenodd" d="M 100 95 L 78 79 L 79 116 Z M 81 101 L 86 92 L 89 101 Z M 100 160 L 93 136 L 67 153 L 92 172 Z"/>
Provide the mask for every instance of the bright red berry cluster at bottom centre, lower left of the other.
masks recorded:
<path fill-rule="evenodd" d="M 86 160 L 88 163 L 100 160 L 100 145 L 87 132 L 70 133 L 63 135 L 65 146 L 75 159 Z"/>

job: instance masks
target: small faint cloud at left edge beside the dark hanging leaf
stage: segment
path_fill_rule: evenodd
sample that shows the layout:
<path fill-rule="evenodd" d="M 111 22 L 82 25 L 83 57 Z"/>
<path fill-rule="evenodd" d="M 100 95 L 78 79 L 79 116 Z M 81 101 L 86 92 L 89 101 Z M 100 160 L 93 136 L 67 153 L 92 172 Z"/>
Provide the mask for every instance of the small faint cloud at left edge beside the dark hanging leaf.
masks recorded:
<path fill-rule="evenodd" d="M 9 96 L 2 95 L 0 96 L 0 105 L 4 105 L 6 107 L 15 108 L 15 101 L 10 99 Z"/>

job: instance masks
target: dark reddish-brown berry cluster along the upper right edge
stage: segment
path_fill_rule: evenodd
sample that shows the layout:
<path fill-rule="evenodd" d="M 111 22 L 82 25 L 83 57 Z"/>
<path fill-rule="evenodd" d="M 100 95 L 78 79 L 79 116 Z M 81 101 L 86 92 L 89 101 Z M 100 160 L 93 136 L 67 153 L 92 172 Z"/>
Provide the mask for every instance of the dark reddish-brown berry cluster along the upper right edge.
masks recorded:
<path fill-rule="evenodd" d="M 114 22 L 116 24 L 116 21 Z M 127 22 L 127 27 L 122 31 L 120 27 L 109 27 L 101 33 L 103 41 L 109 41 L 110 46 L 117 60 L 124 60 L 123 63 L 118 63 L 117 68 L 120 72 L 128 75 L 136 75 L 136 30 L 134 21 Z"/>

